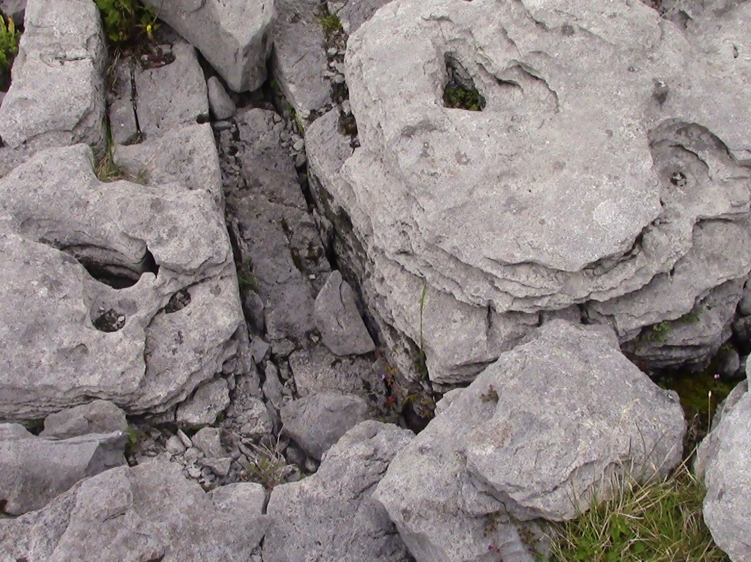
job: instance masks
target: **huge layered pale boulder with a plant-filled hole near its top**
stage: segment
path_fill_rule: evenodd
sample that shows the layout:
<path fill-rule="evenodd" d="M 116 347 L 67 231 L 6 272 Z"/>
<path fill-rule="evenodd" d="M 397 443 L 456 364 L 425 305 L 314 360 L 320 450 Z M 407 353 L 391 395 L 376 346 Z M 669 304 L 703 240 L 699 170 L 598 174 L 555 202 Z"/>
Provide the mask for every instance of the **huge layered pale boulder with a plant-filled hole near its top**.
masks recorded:
<path fill-rule="evenodd" d="M 747 68 L 638 2 L 557 6 L 391 2 L 348 41 L 362 146 L 342 178 L 306 135 L 330 208 L 375 264 L 369 306 L 415 342 L 422 323 L 438 382 L 528 331 L 511 313 L 590 302 L 627 340 L 751 269 L 751 117 L 734 110 L 751 104 Z M 484 110 L 443 107 L 449 67 Z M 454 322 L 421 315 L 425 283 Z M 473 345 L 449 351 L 449 333 Z"/>

